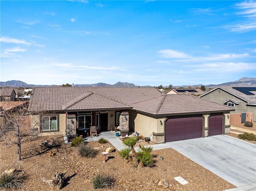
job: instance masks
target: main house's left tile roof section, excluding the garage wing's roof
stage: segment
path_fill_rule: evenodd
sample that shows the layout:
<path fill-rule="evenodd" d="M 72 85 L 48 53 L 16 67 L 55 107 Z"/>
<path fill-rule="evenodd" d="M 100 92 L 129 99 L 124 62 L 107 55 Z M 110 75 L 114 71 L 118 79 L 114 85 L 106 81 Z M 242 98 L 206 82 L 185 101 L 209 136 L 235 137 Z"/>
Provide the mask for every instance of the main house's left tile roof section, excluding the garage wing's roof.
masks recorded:
<path fill-rule="evenodd" d="M 162 95 L 155 88 L 35 87 L 30 111 L 131 108 L 130 104 Z"/>

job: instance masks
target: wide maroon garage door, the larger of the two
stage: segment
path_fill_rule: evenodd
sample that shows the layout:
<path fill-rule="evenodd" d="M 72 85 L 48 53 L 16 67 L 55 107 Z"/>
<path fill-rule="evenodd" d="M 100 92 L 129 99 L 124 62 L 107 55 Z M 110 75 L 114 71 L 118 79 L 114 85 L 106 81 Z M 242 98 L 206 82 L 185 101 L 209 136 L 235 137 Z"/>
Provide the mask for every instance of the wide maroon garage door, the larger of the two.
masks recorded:
<path fill-rule="evenodd" d="M 166 142 L 202 137 L 202 117 L 173 118 L 166 121 Z"/>

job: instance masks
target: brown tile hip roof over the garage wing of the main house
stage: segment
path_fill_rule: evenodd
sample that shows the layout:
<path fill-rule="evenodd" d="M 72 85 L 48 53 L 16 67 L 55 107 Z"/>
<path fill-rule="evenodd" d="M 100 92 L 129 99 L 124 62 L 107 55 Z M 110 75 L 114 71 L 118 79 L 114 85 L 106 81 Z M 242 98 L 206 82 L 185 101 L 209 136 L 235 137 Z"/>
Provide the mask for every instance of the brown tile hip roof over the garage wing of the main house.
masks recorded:
<path fill-rule="evenodd" d="M 154 115 L 196 114 L 202 112 L 223 112 L 235 110 L 192 95 L 163 95 L 132 104 L 134 110 Z"/>

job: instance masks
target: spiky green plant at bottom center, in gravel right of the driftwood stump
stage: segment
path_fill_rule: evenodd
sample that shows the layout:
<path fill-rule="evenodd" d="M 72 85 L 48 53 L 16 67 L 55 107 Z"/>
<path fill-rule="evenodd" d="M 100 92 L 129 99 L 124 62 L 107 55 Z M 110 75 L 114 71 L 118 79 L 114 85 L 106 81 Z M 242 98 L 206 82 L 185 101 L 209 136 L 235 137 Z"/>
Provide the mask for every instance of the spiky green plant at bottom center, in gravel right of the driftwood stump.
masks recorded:
<path fill-rule="evenodd" d="M 114 181 L 115 178 L 100 173 L 92 177 L 92 185 L 94 189 L 110 187 Z"/>

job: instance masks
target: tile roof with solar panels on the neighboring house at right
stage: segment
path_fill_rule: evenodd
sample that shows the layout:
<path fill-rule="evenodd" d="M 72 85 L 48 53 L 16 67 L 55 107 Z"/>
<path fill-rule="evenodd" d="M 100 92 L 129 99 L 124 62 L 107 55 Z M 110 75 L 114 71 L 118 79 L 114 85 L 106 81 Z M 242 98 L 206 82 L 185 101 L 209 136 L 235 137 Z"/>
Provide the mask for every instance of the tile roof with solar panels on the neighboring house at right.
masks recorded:
<path fill-rule="evenodd" d="M 249 92 L 251 92 L 251 95 L 246 95 L 245 93 L 243 93 L 242 91 L 238 91 L 237 89 L 239 88 L 246 88 L 249 90 Z M 255 105 L 256 104 L 256 87 L 231 87 L 231 86 L 220 86 L 220 87 L 217 87 L 211 91 L 208 91 L 207 93 L 205 93 L 204 95 L 212 92 L 212 91 L 215 91 L 216 89 L 222 89 L 223 91 L 226 91 L 234 96 L 236 96 L 237 98 L 240 98 L 244 101 L 247 102 L 247 104 L 252 104 L 252 105 Z M 252 89 L 253 91 L 250 91 L 250 89 Z M 200 97 L 203 97 L 204 95 L 200 96 Z"/>

